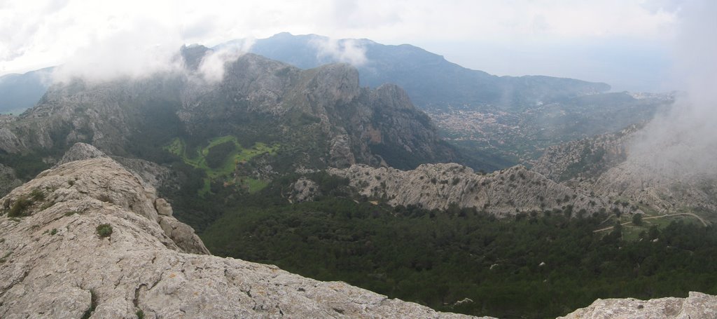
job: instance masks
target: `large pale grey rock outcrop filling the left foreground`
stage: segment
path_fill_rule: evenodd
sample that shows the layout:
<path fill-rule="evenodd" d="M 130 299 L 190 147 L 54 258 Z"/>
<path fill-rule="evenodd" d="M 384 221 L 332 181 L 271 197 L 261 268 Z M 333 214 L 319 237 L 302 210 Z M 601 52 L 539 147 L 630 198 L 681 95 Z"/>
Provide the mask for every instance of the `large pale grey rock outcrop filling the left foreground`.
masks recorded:
<path fill-rule="evenodd" d="M 44 171 L 0 203 L 0 318 L 467 318 L 208 256 L 107 157 Z"/>

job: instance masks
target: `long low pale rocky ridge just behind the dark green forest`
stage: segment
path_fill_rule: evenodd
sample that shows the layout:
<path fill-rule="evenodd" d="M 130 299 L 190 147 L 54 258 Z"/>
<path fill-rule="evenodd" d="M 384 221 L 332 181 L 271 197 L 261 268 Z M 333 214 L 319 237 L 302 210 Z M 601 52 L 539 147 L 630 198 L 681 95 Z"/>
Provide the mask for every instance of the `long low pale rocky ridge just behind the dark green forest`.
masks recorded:
<path fill-rule="evenodd" d="M 489 175 L 475 174 L 457 164 L 426 164 L 409 171 L 353 165 L 328 172 L 348 178 L 361 195 L 383 198 L 391 205 L 428 209 L 458 205 L 483 208 L 497 216 L 567 205 L 572 205 L 574 213 L 590 214 L 609 205 L 602 198 L 576 192 L 522 166 Z"/>

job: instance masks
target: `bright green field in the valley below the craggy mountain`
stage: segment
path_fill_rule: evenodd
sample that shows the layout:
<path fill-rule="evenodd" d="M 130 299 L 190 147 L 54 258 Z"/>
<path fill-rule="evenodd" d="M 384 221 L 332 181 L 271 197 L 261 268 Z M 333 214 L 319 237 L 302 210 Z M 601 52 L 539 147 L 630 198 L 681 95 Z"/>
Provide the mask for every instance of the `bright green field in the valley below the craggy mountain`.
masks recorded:
<path fill-rule="evenodd" d="M 218 167 L 209 167 L 207 164 L 207 158 L 209 156 L 209 150 L 212 147 L 217 147 L 219 144 L 233 143 L 234 150 L 229 154 L 224 155 L 222 164 Z M 199 190 L 199 195 L 206 195 L 211 190 L 211 184 L 214 180 L 223 180 L 228 184 L 239 184 L 240 186 L 247 188 L 250 193 L 255 193 L 266 187 L 267 181 L 257 180 L 245 176 L 233 176 L 237 170 L 237 165 L 243 162 L 248 162 L 252 158 L 257 157 L 261 154 L 276 154 L 278 144 L 268 146 L 267 144 L 257 142 L 250 148 L 242 147 L 239 143 L 239 139 L 233 136 L 217 137 L 210 139 L 206 144 L 206 147 L 189 149 L 183 139 L 177 137 L 172 140 L 164 149 L 171 154 L 179 156 L 183 162 L 192 167 L 204 170 L 206 172 L 206 178 L 204 178 L 204 187 Z"/>

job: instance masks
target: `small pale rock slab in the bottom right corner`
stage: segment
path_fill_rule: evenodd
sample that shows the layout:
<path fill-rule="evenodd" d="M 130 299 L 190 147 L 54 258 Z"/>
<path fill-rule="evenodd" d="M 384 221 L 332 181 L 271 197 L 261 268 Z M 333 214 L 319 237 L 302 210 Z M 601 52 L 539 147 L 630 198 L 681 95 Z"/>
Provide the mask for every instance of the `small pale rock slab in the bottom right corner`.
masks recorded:
<path fill-rule="evenodd" d="M 633 319 L 633 318 L 717 318 L 717 297 L 690 292 L 686 298 L 652 300 L 598 299 L 587 308 L 560 317 L 564 319 Z"/>

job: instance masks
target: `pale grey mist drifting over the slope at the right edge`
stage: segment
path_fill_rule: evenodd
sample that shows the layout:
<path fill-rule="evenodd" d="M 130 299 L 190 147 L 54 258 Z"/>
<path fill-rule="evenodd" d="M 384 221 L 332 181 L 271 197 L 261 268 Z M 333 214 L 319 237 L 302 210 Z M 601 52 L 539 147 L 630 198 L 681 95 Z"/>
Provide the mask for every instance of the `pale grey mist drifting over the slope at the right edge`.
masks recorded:
<path fill-rule="evenodd" d="M 715 1 L 690 1 L 679 12 L 674 73 L 687 90 L 638 134 L 629 156 L 656 174 L 717 172 L 716 12 Z"/>

